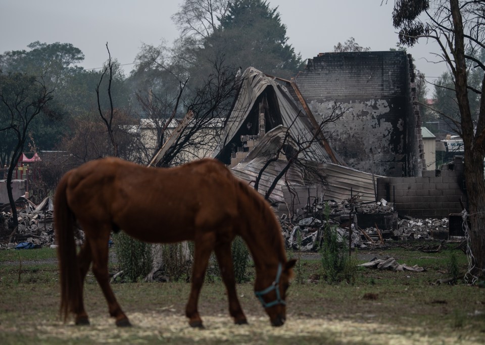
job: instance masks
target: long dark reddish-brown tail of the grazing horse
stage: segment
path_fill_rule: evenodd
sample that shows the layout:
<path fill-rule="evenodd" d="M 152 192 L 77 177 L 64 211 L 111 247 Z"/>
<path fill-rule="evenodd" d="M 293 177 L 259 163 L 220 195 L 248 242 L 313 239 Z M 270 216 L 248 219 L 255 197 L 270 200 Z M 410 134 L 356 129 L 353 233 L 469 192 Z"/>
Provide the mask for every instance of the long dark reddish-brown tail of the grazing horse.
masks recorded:
<path fill-rule="evenodd" d="M 74 241 L 74 213 L 67 203 L 66 189 L 69 172 L 59 182 L 54 199 L 54 228 L 61 283 L 61 318 L 66 321 L 70 311 L 75 311 L 82 300 L 82 286 Z"/>

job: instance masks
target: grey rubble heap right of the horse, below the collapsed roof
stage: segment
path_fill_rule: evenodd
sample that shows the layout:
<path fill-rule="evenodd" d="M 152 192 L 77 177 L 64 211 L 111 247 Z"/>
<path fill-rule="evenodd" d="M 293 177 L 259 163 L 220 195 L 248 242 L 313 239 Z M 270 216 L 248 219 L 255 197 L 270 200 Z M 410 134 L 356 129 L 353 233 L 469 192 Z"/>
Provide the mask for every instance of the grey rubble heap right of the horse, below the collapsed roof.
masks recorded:
<path fill-rule="evenodd" d="M 328 200 L 314 204 L 311 210 L 299 209 L 292 219 L 284 214 L 280 223 L 286 247 L 306 252 L 318 250 L 325 229 L 333 229 L 339 241 L 348 243 L 351 228 L 351 247 L 364 248 L 389 239 L 447 239 L 449 220 L 399 219 L 394 204 L 382 199 L 376 203 Z"/>

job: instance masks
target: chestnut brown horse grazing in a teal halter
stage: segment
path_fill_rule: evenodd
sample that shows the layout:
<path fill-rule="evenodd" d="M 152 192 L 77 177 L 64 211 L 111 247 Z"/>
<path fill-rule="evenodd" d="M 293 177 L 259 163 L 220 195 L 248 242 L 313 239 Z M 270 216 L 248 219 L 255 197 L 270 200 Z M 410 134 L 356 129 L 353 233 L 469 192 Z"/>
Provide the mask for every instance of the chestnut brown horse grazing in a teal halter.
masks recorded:
<path fill-rule="evenodd" d="M 92 262 L 116 325 L 130 325 L 108 274 L 110 232 L 122 230 L 146 242 L 195 242 L 185 309 L 192 327 L 203 327 L 197 305 L 212 251 L 227 289 L 229 313 L 234 323 L 247 323 L 237 300 L 231 259 L 231 241 L 241 236 L 255 263 L 256 296 L 273 326 L 284 323 L 285 292 L 295 260 L 286 260 L 281 229 L 267 202 L 223 164 L 204 159 L 175 168 L 153 168 L 117 158 L 95 160 L 63 176 L 54 202 L 64 321 L 72 312 L 76 324 L 89 324 L 83 285 Z M 76 221 L 85 235 L 77 255 Z"/>

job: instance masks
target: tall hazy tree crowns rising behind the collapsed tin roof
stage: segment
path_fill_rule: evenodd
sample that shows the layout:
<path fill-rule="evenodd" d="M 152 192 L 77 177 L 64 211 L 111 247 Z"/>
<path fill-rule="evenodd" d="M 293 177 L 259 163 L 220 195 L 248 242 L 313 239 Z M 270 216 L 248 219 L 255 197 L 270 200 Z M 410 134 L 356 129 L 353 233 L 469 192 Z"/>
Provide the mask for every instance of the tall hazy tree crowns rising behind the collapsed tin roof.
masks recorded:
<path fill-rule="evenodd" d="M 277 8 L 267 1 L 185 0 L 172 18 L 182 33 L 172 50 L 172 66 L 185 66 L 192 85 L 201 84 L 201 71 L 221 55 L 236 69 L 253 66 L 284 78 L 302 66 L 301 56 L 287 43 Z"/>

